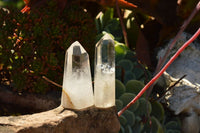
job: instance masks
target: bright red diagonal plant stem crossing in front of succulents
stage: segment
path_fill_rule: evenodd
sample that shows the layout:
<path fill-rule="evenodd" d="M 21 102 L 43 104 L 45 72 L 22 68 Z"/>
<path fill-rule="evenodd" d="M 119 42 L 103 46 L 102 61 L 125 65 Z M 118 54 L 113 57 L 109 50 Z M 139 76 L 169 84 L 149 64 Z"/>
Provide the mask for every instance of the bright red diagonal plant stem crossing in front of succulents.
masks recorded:
<path fill-rule="evenodd" d="M 138 93 L 138 95 L 128 103 L 122 110 L 118 112 L 118 116 L 121 116 L 122 113 L 127 110 L 132 104 L 134 104 L 142 95 L 143 93 L 164 73 L 164 71 L 171 65 L 171 63 L 180 55 L 180 53 L 191 43 L 193 42 L 200 34 L 200 28 L 197 32 L 186 42 L 183 46 L 171 57 L 171 59 L 167 62 L 167 64 L 160 70 L 158 74 L 156 74 L 148 84 Z"/>

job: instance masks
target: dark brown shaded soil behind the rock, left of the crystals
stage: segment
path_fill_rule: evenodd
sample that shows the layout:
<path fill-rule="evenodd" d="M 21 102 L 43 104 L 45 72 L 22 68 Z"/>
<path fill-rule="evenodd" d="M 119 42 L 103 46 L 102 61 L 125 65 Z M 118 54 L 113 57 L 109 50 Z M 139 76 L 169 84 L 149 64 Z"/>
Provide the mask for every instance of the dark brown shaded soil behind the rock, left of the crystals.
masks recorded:
<path fill-rule="evenodd" d="M 23 93 L 19 95 L 0 85 L 0 116 L 18 116 L 51 110 L 60 105 L 61 91 L 47 94 Z"/>

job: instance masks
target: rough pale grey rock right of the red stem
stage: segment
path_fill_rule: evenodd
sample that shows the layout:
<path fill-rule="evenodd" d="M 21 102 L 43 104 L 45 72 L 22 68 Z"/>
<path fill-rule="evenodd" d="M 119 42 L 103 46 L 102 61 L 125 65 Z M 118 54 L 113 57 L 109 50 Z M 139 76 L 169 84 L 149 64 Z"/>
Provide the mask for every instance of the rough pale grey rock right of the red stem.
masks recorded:
<path fill-rule="evenodd" d="M 183 33 L 170 52 L 170 57 L 186 42 L 191 35 Z M 163 57 L 166 48 L 158 53 L 158 58 Z M 167 69 L 164 77 L 166 83 L 176 82 L 183 75 L 186 77 L 173 89 L 168 91 L 165 99 L 169 108 L 176 115 L 186 114 L 183 118 L 183 133 L 200 132 L 200 44 L 191 43 L 180 56 Z M 162 83 L 160 83 L 162 84 Z M 195 126 L 196 125 L 196 126 Z"/>

